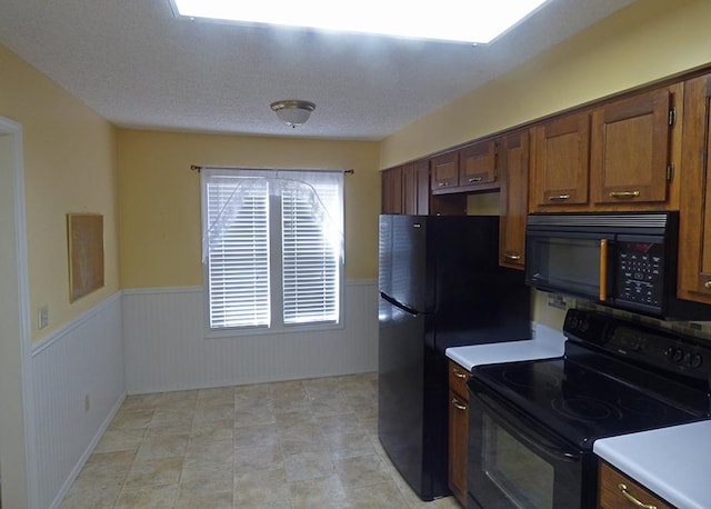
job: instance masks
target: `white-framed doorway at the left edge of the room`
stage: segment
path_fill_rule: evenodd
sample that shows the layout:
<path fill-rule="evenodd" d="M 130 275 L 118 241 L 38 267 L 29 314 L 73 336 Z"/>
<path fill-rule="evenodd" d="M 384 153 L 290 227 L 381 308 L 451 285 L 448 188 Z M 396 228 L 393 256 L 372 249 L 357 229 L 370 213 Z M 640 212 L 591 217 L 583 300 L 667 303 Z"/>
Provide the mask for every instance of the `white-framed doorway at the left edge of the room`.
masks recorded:
<path fill-rule="evenodd" d="M 0 507 L 29 508 L 30 408 L 22 131 L 0 117 Z"/>

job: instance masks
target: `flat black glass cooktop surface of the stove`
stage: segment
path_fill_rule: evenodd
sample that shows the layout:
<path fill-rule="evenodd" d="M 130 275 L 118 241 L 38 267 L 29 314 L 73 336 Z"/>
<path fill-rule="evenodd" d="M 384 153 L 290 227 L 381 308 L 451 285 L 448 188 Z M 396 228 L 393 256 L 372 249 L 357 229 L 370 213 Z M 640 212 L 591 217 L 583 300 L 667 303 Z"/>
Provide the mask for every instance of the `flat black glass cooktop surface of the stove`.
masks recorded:
<path fill-rule="evenodd" d="M 498 395 L 583 449 L 598 438 L 705 418 L 701 409 L 568 358 L 479 366 L 470 388 L 474 396 Z"/>

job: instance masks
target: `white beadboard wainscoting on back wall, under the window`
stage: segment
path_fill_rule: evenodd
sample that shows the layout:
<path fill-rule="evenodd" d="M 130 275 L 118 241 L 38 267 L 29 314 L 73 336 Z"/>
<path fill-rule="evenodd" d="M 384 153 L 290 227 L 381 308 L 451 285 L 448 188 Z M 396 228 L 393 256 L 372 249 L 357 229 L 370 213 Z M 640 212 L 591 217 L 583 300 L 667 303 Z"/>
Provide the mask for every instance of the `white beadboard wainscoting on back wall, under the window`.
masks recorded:
<path fill-rule="evenodd" d="M 201 287 L 123 291 L 126 389 L 162 392 L 374 371 L 375 281 L 346 283 L 343 328 L 204 338 Z"/>

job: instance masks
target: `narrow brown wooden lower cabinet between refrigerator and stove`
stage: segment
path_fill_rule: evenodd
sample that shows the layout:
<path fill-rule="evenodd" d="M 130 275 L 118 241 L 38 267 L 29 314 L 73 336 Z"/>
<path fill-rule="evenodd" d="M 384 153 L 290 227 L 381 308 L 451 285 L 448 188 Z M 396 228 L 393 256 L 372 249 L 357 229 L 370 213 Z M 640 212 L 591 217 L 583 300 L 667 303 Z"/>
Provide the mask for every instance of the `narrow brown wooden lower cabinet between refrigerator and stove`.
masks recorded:
<path fill-rule="evenodd" d="M 469 372 L 457 362 L 449 366 L 449 489 L 467 507 L 469 449 Z"/>

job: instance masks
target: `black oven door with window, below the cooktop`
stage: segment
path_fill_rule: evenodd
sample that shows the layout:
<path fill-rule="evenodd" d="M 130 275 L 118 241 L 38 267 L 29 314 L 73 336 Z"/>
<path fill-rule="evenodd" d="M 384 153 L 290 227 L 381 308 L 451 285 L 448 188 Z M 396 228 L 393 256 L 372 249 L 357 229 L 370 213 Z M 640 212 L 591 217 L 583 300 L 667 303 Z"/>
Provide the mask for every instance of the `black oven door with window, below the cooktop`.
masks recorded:
<path fill-rule="evenodd" d="M 574 448 L 503 401 L 482 392 L 473 396 L 469 509 L 593 507 L 597 479 L 590 452 Z"/>

